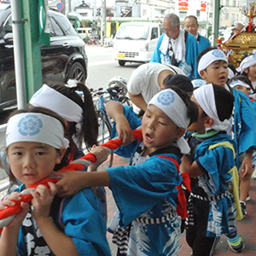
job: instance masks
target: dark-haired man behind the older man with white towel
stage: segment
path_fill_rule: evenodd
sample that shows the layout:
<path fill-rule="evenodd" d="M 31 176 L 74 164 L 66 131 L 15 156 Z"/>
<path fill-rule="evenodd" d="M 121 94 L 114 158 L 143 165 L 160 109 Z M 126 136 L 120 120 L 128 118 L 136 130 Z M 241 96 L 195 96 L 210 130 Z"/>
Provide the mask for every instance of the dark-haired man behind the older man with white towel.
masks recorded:
<path fill-rule="evenodd" d="M 198 43 L 199 53 L 201 53 L 201 51 L 203 49 L 210 47 L 211 44 L 210 44 L 210 41 L 208 38 L 201 36 L 197 32 L 198 27 L 199 27 L 199 24 L 197 22 L 197 18 L 194 15 L 189 15 L 185 18 L 184 29 L 186 32 L 189 32 L 190 34 L 192 34 L 195 37 L 195 39 L 197 40 L 197 43 Z"/>

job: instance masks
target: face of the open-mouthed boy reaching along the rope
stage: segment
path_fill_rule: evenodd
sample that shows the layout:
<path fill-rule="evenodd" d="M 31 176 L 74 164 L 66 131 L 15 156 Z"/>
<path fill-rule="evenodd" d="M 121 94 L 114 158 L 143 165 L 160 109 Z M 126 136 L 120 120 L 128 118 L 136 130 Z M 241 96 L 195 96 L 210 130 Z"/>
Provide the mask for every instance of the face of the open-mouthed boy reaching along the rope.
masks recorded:
<path fill-rule="evenodd" d="M 148 154 L 172 145 L 175 138 L 183 136 L 184 129 L 178 128 L 166 113 L 154 105 L 149 105 L 143 115 L 143 143 Z"/>

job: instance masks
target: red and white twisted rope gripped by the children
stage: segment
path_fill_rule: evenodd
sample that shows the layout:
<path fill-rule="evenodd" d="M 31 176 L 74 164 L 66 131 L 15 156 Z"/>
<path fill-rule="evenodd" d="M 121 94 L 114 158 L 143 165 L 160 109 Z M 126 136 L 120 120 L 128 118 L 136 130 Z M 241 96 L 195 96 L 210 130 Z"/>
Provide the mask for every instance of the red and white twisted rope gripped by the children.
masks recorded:
<path fill-rule="evenodd" d="M 142 130 L 135 130 L 133 131 L 133 137 L 141 140 L 143 135 L 142 135 Z M 108 143 L 103 143 L 101 147 L 109 148 L 109 149 L 117 149 L 119 146 L 122 145 L 122 140 L 119 138 L 113 139 L 108 141 Z M 74 160 L 72 163 L 69 165 L 63 167 L 60 171 L 79 171 L 83 170 L 84 166 L 90 166 L 91 163 L 96 162 L 96 155 L 88 153 L 85 154 L 83 157 L 79 158 L 79 160 Z M 22 201 L 24 202 L 29 202 L 32 201 L 32 195 L 30 194 L 30 191 L 33 189 L 35 190 L 39 184 L 43 184 L 49 189 L 48 183 L 57 183 L 60 180 L 58 177 L 48 177 L 45 178 L 38 183 L 34 183 L 31 186 L 29 186 L 27 189 L 23 190 L 20 193 L 21 200 L 20 201 L 14 201 L 15 205 L 14 206 L 8 206 L 6 209 L 0 210 L 0 234 L 3 230 L 3 227 L 8 225 L 13 218 L 15 218 L 15 214 L 19 213 L 22 211 L 22 207 L 20 206 L 20 203 Z"/>

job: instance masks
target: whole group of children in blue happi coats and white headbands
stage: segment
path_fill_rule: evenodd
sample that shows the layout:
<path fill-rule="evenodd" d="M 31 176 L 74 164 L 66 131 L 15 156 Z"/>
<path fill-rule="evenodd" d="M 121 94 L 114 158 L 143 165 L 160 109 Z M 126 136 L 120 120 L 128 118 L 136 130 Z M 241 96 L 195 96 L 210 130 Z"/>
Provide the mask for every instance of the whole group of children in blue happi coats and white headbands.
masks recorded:
<path fill-rule="evenodd" d="M 248 62 L 241 67 L 251 80 Z M 94 146 L 96 116 L 82 84 L 44 85 L 33 96 L 33 107 L 13 113 L 6 153 L 9 173 L 20 186 L 3 198 L 0 210 L 20 201 L 32 183 L 50 175 L 61 180 L 49 189 L 38 185 L 30 192 L 32 203 L 20 204 L 22 211 L 3 228 L 0 254 L 110 255 L 105 198 L 96 192 L 104 186 L 119 210 L 113 230 L 118 255 L 177 255 L 183 227 L 193 256 L 213 255 L 222 235 L 241 252 L 236 220 L 246 214 L 253 171 L 256 125 L 247 85 L 254 87 L 244 76 L 228 82 L 228 59 L 220 49 L 203 50 L 197 67 L 205 85 L 192 96 L 178 84 L 168 85 L 148 102 L 142 119 L 131 107 L 107 103 L 113 137 L 123 140 L 115 153 L 129 156 L 129 166 L 96 172 L 108 150 Z M 137 129 L 142 138 L 134 140 Z M 96 163 L 85 172 L 57 172 L 83 155 L 81 138 Z"/>

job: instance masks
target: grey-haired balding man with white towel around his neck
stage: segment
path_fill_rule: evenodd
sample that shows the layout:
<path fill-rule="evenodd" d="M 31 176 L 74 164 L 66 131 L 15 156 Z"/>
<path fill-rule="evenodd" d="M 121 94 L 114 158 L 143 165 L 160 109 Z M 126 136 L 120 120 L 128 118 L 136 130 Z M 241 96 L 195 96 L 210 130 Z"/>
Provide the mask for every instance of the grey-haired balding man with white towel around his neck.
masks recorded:
<path fill-rule="evenodd" d="M 150 62 L 171 64 L 179 67 L 189 79 L 200 78 L 196 68 L 199 53 L 195 37 L 180 27 L 175 14 L 168 14 L 163 20 L 162 34 L 151 56 Z"/>

